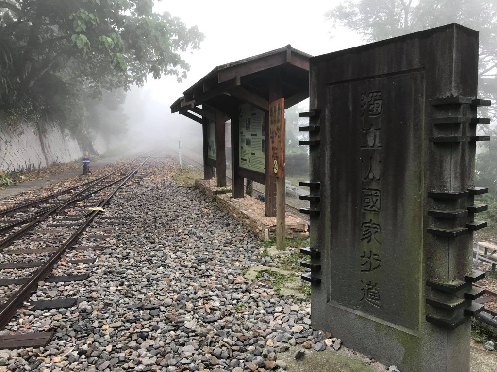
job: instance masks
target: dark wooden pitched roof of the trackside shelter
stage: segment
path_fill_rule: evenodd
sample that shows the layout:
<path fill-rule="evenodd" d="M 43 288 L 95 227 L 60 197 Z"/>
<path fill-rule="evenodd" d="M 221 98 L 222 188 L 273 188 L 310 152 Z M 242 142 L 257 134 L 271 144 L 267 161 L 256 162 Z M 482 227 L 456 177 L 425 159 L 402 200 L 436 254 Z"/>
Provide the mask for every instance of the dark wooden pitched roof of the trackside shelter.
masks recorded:
<path fill-rule="evenodd" d="M 201 115 L 195 108 L 202 105 L 202 108 L 211 107 L 231 116 L 233 107 L 244 102 L 267 111 L 271 84 L 281 85 L 285 108 L 288 108 L 309 97 L 311 57 L 287 45 L 217 66 L 186 89 L 184 96 L 171 105 L 171 112 L 192 111 Z"/>

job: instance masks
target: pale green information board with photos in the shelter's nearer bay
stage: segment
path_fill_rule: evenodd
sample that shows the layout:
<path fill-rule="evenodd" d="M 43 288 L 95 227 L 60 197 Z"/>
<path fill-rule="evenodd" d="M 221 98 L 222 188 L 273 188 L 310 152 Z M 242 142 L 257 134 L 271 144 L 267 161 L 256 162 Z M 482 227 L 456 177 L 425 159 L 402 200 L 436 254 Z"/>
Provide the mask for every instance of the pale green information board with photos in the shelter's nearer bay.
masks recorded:
<path fill-rule="evenodd" d="M 249 104 L 239 109 L 240 167 L 250 171 L 265 172 L 264 112 Z"/>

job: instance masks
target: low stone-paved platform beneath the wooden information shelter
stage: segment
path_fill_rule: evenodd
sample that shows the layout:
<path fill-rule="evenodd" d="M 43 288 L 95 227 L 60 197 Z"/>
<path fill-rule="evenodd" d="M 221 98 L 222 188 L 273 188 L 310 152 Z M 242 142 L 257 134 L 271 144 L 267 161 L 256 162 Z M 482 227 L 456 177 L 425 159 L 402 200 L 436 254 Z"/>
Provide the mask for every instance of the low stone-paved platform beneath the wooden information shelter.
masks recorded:
<path fill-rule="evenodd" d="M 261 240 L 275 239 L 276 217 L 264 215 L 264 203 L 251 196 L 234 199 L 231 194 L 217 195 L 217 204 L 224 212 L 231 214 L 247 226 Z M 286 213 L 286 237 L 308 237 L 307 221 Z"/>

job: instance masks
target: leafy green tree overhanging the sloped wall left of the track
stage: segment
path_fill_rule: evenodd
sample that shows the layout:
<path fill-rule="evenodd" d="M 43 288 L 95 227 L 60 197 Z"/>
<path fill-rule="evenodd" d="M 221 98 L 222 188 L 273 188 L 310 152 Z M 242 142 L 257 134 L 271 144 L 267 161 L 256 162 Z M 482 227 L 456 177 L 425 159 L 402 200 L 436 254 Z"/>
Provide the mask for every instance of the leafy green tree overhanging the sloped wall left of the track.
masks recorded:
<path fill-rule="evenodd" d="M 62 108 L 53 102 L 59 92 L 98 97 L 103 90 L 140 86 L 149 75 L 184 78 L 189 65 L 180 53 L 198 49 L 203 35 L 168 12 L 154 12 L 153 5 L 0 1 L 0 108 L 20 104 L 27 112 L 49 114 Z"/>

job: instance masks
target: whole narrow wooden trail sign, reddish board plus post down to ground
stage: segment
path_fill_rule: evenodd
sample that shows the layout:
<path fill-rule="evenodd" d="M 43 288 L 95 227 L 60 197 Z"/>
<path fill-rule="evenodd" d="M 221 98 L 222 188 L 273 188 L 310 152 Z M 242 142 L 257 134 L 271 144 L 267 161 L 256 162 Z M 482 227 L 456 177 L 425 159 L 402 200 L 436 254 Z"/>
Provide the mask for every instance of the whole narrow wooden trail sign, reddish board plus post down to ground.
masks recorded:
<path fill-rule="evenodd" d="M 269 105 L 269 164 L 276 174 L 276 248 L 286 248 L 285 99 Z M 271 170 L 270 170 L 271 172 Z"/>

